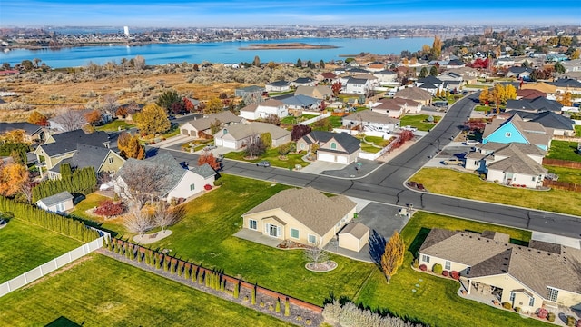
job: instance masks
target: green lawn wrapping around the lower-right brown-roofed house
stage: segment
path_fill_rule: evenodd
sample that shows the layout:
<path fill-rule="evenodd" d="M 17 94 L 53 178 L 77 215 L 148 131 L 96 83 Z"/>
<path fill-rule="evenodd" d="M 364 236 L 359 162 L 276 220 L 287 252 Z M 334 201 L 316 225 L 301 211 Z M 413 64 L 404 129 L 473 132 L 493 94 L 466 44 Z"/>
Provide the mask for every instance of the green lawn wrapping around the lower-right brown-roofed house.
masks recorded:
<path fill-rule="evenodd" d="M 457 295 L 458 282 L 411 269 L 410 264 L 419 246 L 429 230 L 436 227 L 477 233 L 494 228 L 522 242 L 528 242 L 531 236 L 530 232 L 512 228 L 432 213 L 416 213 L 401 233 L 408 248 L 403 266 L 389 285 L 383 273 L 374 269 L 354 301 L 373 310 L 389 310 L 398 316 L 418 317 L 421 322 L 432 326 L 547 326 L 545 322 L 524 320 L 517 313 L 465 300 Z M 412 289 L 417 292 L 411 292 Z"/>

